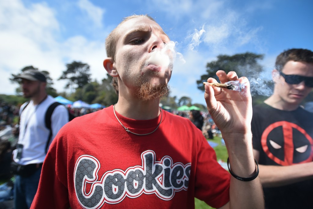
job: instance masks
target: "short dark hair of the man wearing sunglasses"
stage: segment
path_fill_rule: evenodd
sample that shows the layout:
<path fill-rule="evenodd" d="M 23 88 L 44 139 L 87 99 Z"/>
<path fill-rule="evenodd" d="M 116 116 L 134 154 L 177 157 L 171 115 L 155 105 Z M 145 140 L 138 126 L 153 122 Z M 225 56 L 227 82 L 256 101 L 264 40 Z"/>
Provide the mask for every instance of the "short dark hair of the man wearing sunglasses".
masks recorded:
<path fill-rule="evenodd" d="M 288 61 L 313 63 L 313 52 L 307 49 L 289 49 L 277 56 L 275 69 L 282 71 Z"/>

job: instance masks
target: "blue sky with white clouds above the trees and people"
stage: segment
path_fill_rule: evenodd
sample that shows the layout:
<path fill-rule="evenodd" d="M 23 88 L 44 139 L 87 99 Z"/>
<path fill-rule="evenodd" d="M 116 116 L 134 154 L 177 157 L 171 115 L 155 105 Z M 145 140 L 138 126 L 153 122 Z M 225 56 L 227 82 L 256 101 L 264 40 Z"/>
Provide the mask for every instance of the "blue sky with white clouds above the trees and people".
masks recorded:
<path fill-rule="evenodd" d="M 15 93 L 18 86 L 9 77 L 28 65 L 49 71 L 58 91 L 64 91 L 65 83 L 57 78 L 74 60 L 89 64 L 92 79 L 101 81 L 106 77 L 105 37 L 123 17 L 149 14 L 186 61 L 174 64 L 171 96 L 205 104 L 196 80 L 217 55 L 264 54 L 262 79 L 270 79 L 280 52 L 313 50 L 312 8 L 311 0 L 3 0 L 0 94 Z M 193 43 L 201 29 L 205 32 Z"/>

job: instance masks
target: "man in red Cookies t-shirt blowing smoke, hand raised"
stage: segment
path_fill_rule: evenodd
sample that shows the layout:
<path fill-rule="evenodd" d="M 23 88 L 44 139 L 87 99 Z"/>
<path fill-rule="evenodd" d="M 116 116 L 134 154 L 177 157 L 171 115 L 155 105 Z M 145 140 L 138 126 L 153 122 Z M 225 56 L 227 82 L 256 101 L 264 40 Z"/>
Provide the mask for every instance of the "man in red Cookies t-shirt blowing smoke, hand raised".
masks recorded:
<path fill-rule="evenodd" d="M 239 80 L 246 89 L 205 85 L 232 177 L 201 130 L 159 108 L 160 97 L 169 92 L 171 44 L 147 15 L 125 18 L 109 34 L 103 65 L 118 102 L 62 128 L 47 154 L 32 208 L 194 208 L 194 197 L 215 208 L 264 208 L 252 151 L 249 81 L 218 71 L 222 83 Z"/>

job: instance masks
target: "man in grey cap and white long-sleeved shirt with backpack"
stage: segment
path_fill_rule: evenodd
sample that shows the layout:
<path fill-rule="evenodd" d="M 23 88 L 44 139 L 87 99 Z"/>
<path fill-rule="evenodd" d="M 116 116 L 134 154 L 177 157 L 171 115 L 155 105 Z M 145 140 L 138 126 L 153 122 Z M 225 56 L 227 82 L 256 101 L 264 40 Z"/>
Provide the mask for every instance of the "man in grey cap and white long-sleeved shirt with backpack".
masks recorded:
<path fill-rule="evenodd" d="M 56 101 L 46 92 L 46 77 L 38 70 L 27 70 L 15 79 L 20 80 L 23 96 L 30 101 L 20 108 L 20 133 L 13 151 L 12 169 L 16 174 L 14 204 L 15 208 L 30 208 L 49 145 L 59 129 L 69 121 L 69 115 L 66 107 L 57 106 L 51 116 L 50 133 L 45 126 L 45 113 Z"/>

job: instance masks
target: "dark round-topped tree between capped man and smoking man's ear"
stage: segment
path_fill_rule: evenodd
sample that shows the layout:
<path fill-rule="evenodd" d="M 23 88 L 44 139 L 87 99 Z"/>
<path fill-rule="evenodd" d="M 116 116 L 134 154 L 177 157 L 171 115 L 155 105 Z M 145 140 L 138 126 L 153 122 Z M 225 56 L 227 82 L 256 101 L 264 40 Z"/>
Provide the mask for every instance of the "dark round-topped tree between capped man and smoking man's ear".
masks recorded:
<path fill-rule="evenodd" d="M 68 80 L 65 88 L 73 88 L 76 85 L 78 88 L 82 88 L 90 81 L 90 66 L 86 63 L 73 61 L 72 63 L 66 64 L 66 70 L 63 71 L 62 75 L 58 80 Z"/>

